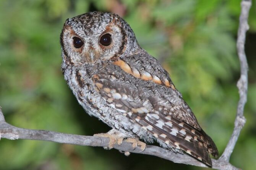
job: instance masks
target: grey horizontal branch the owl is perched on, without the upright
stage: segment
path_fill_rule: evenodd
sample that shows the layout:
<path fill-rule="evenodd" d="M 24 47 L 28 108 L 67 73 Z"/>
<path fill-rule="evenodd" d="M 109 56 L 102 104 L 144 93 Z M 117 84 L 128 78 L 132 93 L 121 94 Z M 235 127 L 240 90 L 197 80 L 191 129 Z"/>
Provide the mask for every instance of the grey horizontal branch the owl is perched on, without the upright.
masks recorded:
<path fill-rule="evenodd" d="M 81 146 L 101 146 L 107 147 L 109 146 L 109 138 L 107 137 L 92 137 L 92 136 L 83 136 L 83 135 L 73 135 L 66 133 L 58 133 L 47 130 L 32 130 L 32 129 L 23 129 L 12 126 L 5 122 L 2 110 L 0 109 L 0 135 L 2 138 L 16 140 L 16 139 L 28 139 L 28 140 L 45 140 L 45 141 L 53 141 L 57 143 L 68 143 L 73 145 L 81 145 Z M 144 151 L 141 151 L 139 147 L 133 148 L 132 144 L 126 141 L 123 141 L 121 145 L 114 145 L 115 149 L 120 151 L 128 151 L 130 153 L 139 153 L 161 157 L 167 160 L 171 160 L 175 163 L 189 164 L 195 165 L 199 167 L 207 167 L 202 162 L 199 162 L 197 159 L 187 155 L 174 153 L 173 151 L 158 147 L 147 145 Z M 237 170 L 237 168 L 233 167 L 233 165 L 228 162 L 222 162 L 220 160 L 212 159 L 212 167 L 216 169 L 233 169 Z"/>

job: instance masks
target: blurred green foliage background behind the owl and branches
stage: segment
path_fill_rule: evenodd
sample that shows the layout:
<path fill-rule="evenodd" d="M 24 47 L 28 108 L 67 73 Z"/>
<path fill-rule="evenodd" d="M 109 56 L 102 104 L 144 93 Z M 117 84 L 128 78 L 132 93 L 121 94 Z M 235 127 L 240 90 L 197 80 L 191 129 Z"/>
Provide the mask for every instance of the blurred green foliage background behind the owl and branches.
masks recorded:
<path fill-rule="evenodd" d="M 256 167 L 256 1 L 246 41 L 249 62 L 246 125 L 230 162 Z M 120 14 L 141 46 L 160 60 L 213 138 L 220 154 L 238 102 L 236 36 L 239 0 L 1 0 L 0 106 L 6 121 L 29 129 L 92 135 L 110 128 L 88 116 L 60 71 L 65 20 L 87 11 Z M 2 139 L 1 170 L 203 169 L 157 157 L 46 141 Z"/>

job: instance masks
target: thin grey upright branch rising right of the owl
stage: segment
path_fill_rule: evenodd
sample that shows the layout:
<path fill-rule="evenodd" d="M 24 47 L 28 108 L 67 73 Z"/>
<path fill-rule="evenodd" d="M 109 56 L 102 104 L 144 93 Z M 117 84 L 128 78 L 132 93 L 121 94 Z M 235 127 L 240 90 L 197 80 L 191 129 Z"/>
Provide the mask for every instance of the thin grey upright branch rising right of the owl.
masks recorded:
<path fill-rule="evenodd" d="M 247 89 L 248 89 L 248 64 L 247 64 L 246 55 L 245 55 L 245 38 L 246 38 L 246 31 L 249 29 L 249 25 L 247 21 L 248 21 L 250 8 L 251 8 L 251 0 L 242 0 L 241 14 L 239 18 L 239 28 L 237 33 L 237 53 L 240 60 L 240 67 L 241 67 L 240 68 L 241 76 L 237 82 L 240 99 L 237 106 L 235 128 L 224 150 L 224 153 L 219 158 L 226 162 L 229 162 L 230 156 L 235 148 L 235 144 L 237 143 L 237 139 L 239 137 L 240 131 L 246 122 L 246 119 L 243 116 L 243 110 L 245 107 L 245 103 L 247 101 Z"/>

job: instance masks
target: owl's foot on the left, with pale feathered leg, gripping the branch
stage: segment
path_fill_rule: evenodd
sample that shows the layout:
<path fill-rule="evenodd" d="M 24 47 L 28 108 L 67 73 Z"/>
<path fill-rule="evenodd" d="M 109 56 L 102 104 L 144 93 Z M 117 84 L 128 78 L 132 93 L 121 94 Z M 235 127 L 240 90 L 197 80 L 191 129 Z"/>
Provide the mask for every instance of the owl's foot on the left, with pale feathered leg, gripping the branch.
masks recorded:
<path fill-rule="evenodd" d="M 123 142 L 123 139 L 125 138 L 125 135 L 115 129 L 110 130 L 107 133 L 98 133 L 94 134 L 93 136 L 96 137 L 108 137 L 109 138 L 109 146 L 104 147 L 104 149 L 112 149 L 115 144 L 121 145 Z"/>

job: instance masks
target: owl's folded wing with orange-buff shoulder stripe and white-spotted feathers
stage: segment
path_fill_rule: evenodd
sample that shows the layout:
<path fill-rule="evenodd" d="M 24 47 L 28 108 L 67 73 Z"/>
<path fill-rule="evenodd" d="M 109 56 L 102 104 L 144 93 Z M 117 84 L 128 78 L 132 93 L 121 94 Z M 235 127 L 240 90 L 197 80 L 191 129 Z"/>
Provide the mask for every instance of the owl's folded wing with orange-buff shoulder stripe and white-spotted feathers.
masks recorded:
<path fill-rule="evenodd" d="M 105 65 L 92 78 L 97 91 L 109 106 L 137 122 L 163 145 L 181 149 L 211 166 L 209 153 L 217 156 L 217 148 L 168 73 L 155 59 L 138 61 L 136 66 L 127 59 Z M 157 71 L 146 67 L 148 64 Z"/>

